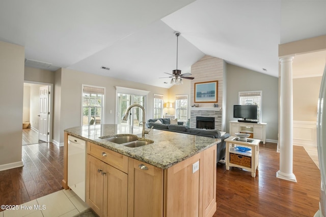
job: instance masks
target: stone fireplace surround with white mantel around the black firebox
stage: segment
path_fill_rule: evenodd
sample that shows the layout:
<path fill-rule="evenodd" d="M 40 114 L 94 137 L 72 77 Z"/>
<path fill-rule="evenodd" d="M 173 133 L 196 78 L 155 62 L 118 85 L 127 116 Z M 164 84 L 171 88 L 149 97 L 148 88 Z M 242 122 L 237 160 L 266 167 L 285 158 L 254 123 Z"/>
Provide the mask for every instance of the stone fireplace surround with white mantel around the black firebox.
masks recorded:
<path fill-rule="evenodd" d="M 222 131 L 222 111 L 221 108 L 191 107 L 190 108 L 190 127 L 196 128 L 196 117 L 214 117 L 215 130 Z"/>

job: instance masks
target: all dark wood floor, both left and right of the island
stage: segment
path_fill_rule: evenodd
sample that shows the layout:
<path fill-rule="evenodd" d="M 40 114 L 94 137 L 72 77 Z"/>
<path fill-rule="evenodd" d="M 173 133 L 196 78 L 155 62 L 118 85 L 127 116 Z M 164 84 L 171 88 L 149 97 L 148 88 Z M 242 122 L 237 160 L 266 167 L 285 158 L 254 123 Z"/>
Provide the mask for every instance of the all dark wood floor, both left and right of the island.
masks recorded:
<path fill-rule="evenodd" d="M 0 204 L 22 204 L 62 189 L 63 147 L 52 143 L 22 146 L 24 167 L 0 171 Z M 218 164 L 214 216 L 313 216 L 318 210 L 320 173 L 301 146 L 293 148 L 297 183 L 276 178 L 275 143 L 260 144 L 259 170 Z"/>

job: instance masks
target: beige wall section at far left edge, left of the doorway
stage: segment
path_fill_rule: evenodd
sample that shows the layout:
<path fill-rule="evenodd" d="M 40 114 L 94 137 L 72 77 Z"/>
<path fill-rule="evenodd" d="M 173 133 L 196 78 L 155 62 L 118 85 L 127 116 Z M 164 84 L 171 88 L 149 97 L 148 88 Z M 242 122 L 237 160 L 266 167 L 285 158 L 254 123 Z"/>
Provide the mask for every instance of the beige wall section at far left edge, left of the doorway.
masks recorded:
<path fill-rule="evenodd" d="M 24 48 L 0 41 L 0 170 L 22 166 Z"/>

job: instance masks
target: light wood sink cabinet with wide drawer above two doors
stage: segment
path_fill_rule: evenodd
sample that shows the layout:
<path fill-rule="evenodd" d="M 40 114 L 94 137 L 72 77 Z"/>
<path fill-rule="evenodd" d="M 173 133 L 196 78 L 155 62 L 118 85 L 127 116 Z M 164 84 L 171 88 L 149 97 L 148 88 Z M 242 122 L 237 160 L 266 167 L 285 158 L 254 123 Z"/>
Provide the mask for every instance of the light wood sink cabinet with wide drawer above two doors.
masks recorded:
<path fill-rule="evenodd" d="M 113 162 L 112 164 L 116 167 L 128 168 L 128 162 L 123 163 L 124 158 L 127 162 L 128 158 L 120 153 L 111 153 L 111 150 L 88 143 L 86 202 L 99 216 L 127 216 L 128 175 L 104 163 Z M 120 160 L 117 161 L 117 159 Z"/>

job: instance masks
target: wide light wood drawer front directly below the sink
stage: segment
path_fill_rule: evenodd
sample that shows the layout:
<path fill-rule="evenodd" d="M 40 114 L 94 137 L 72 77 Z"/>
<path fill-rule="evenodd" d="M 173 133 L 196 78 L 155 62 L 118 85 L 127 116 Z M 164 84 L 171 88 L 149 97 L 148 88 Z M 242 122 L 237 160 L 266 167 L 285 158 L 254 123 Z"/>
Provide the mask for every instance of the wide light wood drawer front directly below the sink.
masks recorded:
<path fill-rule="evenodd" d="M 128 173 L 128 157 L 94 143 L 87 143 L 87 153 L 111 165 L 124 173 Z"/>

